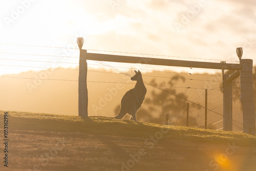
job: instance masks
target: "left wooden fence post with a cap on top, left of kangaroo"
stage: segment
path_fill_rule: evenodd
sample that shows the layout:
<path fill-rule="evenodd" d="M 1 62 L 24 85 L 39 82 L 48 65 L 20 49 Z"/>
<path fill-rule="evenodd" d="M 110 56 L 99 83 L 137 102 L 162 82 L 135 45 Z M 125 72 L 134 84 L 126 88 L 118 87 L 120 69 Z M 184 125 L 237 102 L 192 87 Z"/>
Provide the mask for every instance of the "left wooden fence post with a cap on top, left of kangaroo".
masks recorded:
<path fill-rule="evenodd" d="M 83 38 L 77 38 L 80 50 L 79 77 L 78 77 L 78 115 L 88 117 L 88 90 L 87 90 L 87 50 L 82 50 Z"/>

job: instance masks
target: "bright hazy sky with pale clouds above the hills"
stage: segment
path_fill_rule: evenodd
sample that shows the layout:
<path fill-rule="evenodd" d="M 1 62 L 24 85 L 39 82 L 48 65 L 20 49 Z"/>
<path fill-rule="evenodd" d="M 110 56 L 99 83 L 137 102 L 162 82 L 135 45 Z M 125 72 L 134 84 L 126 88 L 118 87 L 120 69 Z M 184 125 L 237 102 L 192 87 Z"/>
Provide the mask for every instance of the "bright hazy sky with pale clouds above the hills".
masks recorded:
<path fill-rule="evenodd" d="M 256 64 L 253 0 L 1 1 L 0 26 L 0 75 L 42 68 L 75 68 L 79 60 L 77 37 L 83 37 L 83 49 L 93 53 L 137 53 L 135 56 L 208 62 L 238 63 L 236 48 L 242 47 L 242 58 L 253 59 Z M 99 67 L 95 61 L 88 64 Z M 127 63 L 110 65 L 216 72 L 135 67 Z"/>

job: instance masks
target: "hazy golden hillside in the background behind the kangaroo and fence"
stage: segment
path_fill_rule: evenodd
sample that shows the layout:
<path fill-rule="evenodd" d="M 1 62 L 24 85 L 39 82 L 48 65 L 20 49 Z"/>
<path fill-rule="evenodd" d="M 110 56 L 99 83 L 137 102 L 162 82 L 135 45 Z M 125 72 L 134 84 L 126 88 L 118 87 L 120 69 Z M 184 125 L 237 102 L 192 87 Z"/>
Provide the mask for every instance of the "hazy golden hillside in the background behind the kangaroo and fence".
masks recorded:
<path fill-rule="evenodd" d="M 172 69 L 172 68 L 170 68 Z M 135 86 L 135 81 L 131 81 L 130 77 L 122 75 L 120 73 L 112 73 L 111 70 L 93 70 L 88 71 L 88 113 L 89 116 L 115 116 L 117 112 L 114 112 L 116 107 L 120 105 L 120 100 L 126 91 L 132 89 Z M 163 81 L 168 82 L 170 78 L 179 76 L 184 77 L 178 79 L 174 83 L 177 94 L 184 93 L 188 100 L 204 105 L 204 89 L 213 89 L 221 86 L 222 76 L 220 73 L 215 75 L 195 73 L 191 71 L 191 75 L 188 73 L 175 73 L 174 71 L 164 72 L 148 72 L 147 70 L 141 70 L 143 74 L 143 80 L 151 82 L 155 79 L 156 84 L 161 84 Z M 17 78 L 38 78 L 42 73 L 49 73 L 46 79 L 57 80 L 33 80 L 33 79 L 17 79 Z M 130 74 L 134 74 L 134 71 L 129 71 Z M 63 80 L 77 80 L 78 71 L 69 69 L 59 70 L 44 70 L 39 72 L 28 71 L 17 75 L 4 75 L 7 77 L 17 78 L 4 78 L 0 80 L 4 82 L 0 84 L 0 94 L 5 97 L 0 99 L 0 110 L 5 111 L 27 111 L 36 113 L 51 113 L 51 114 L 63 114 L 63 115 L 78 115 L 78 82 L 77 81 L 59 81 Z M 160 76 L 160 77 L 159 77 Z M 90 82 L 96 81 L 96 82 Z M 103 81 L 103 82 L 97 82 Z M 114 83 L 108 83 L 108 82 Z M 115 82 L 123 82 L 122 84 Z M 190 87 L 187 89 L 186 87 Z M 118 88 L 118 89 L 117 89 Z M 147 86 L 146 98 L 152 97 L 152 91 L 156 93 L 160 90 L 154 89 L 151 86 Z M 165 88 L 165 87 L 163 87 Z M 201 89 L 192 89 L 201 88 Z M 203 90 L 202 90 L 203 89 Z M 112 92 L 111 92 L 112 90 Z M 233 90 L 236 100 L 233 101 L 233 119 L 238 122 L 242 122 L 241 103 L 239 101 L 239 94 Z M 218 89 L 208 90 L 208 109 L 214 109 L 215 112 L 223 113 L 223 94 Z M 10 103 L 11 101 L 11 103 Z M 141 106 L 141 110 L 147 110 L 146 105 Z M 161 109 L 158 109 L 161 111 Z M 180 111 L 181 112 L 181 111 Z M 176 118 L 176 113 L 169 112 L 170 119 Z M 159 113 L 152 113 L 152 117 L 159 117 Z M 190 104 L 189 116 L 197 118 L 197 123 L 200 125 L 204 122 L 204 110 Z M 183 119 L 183 118 L 182 118 Z M 221 115 L 208 112 L 208 126 L 216 123 L 216 129 L 223 127 Z M 242 131 L 242 124 L 233 123 L 234 131 Z"/>

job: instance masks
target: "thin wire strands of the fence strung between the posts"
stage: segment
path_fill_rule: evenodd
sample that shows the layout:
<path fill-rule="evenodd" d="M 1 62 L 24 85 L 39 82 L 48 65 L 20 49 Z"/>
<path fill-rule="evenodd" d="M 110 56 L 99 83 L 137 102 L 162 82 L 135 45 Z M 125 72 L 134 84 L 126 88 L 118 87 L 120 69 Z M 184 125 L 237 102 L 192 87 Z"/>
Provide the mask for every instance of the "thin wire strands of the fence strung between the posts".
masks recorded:
<path fill-rule="evenodd" d="M 26 46 L 26 47 L 37 47 L 37 48 L 58 48 L 58 49 L 76 49 L 78 50 L 78 48 L 62 48 L 62 47 L 49 47 L 49 46 L 31 46 L 31 45 L 15 45 L 15 44 L 0 44 L 0 45 L 8 45 L 8 46 Z M 110 52 L 110 53 L 123 53 L 123 54 L 133 54 L 133 55 L 146 55 L 146 56 L 158 56 L 158 57 L 177 57 L 177 58 L 188 58 L 188 59 L 202 59 L 202 60 L 215 60 L 215 61 L 220 61 L 219 59 L 206 59 L 206 58 L 194 58 L 194 57 L 183 57 L 183 56 L 170 56 L 170 55 L 156 55 L 156 54 L 142 54 L 142 53 L 129 53 L 129 52 L 118 52 L 118 51 L 104 51 L 104 50 L 89 50 L 89 51 L 101 51 L 101 52 Z M 40 57 L 68 57 L 68 58 L 79 58 L 79 57 L 76 57 L 76 56 L 60 56 L 60 55 L 46 55 L 46 54 L 24 54 L 24 53 L 10 53 L 10 52 L 0 52 L 1 54 L 9 54 L 9 55 L 20 55 L 20 56 L 40 56 Z M 79 63 L 78 62 L 59 62 L 59 61 L 44 61 L 44 60 L 25 60 L 25 59 L 10 59 L 10 58 L 0 58 L 0 60 L 10 60 L 10 61 L 26 61 L 26 62 L 44 62 L 44 63 L 63 63 L 63 64 L 69 64 L 69 65 L 76 65 L 78 66 Z M 230 61 L 230 62 L 239 62 L 239 61 L 233 61 L 233 60 L 227 60 L 227 61 Z M 89 63 L 88 65 L 89 66 L 100 66 L 100 67 L 107 67 L 109 69 L 111 69 L 113 72 L 108 72 L 108 71 L 95 71 L 95 70 L 88 70 L 89 72 L 99 72 L 99 73 L 108 73 L 108 74 L 123 74 L 123 75 L 126 75 L 126 76 L 129 76 L 131 77 L 132 75 L 129 74 L 129 73 L 126 73 L 124 71 L 121 71 L 119 68 L 123 68 L 123 69 L 130 69 L 132 70 L 133 68 L 129 68 L 129 67 L 120 67 L 120 66 L 112 66 L 112 65 L 109 65 L 108 63 L 105 63 L 105 62 L 102 62 L 102 61 L 96 61 L 98 64 L 93 64 L 93 63 Z M 74 70 L 74 71 L 78 71 L 78 69 L 70 69 L 70 68 L 51 68 L 51 67 L 35 67 L 35 66 L 23 66 L 23 65 L 4 65 L 4 64 L 1 64 L 0 66 L 5 66 L 5 67 L 24 67 L 24 68 L 34 68 L 34 69 L 51 69 L 51 70 Z M 192 69 L 192 68 L 190 68 Z M 151 72 L 160 72 L 160 73 L 174 73 L 174 74 L 186 74 L 186 75 L 189 75 L 189 76 L 193 76 L 193 75 L 204 75 L 204 76 L 212 76 L 212 75 L 209 75 L 209 74 L 191 74 L 191 73 L 179 73 L 179 72 L 173 72 L 173 71 L 157 71 L 157 70 L 149 70 L 149 69 L 140 69 L 140 70 L 144 70 L 144 71 L 151 71 Z M 167 78 L 167 79 L 182 79 L 182 80 L 191 80 L 191 81 L 211 81 L 211 82 L 223 82 L 222 81 L 222 75 L 214 75 L 215 77 L 219 77 L 219 80 L 210 80 L 210 79 L 195 79 L 195 78 L 184 78 L 184 77 L 166 77 L 166 76 L 155 76 L 155 75 L 143 75 L 145 77 L 154 77 L 154 78 Z M 13 78 L 13 79 L 40 79 L 40 78 L 29 78 L 29 77 L 12 77 L 12 76 L 0 76 L 2 78 Z M 40 80 L 49 80 L 49 81 L 74 81 L 74 82 L 77 82 L 78 80 L 72 80 L 72 79 L 40 79 Z M 117 81 L 96 81 L 96 80 L 88 80 L 87 82 L 91 82 L 91 83 L 123 83 L 123 84 L 135 84 L 133 82 L 117 82 Z M 202 110 L 202 109 L 205 109 L 205 106 L 201 105 L 200 102 L 202 100 L 202 98 L 200 99 L 200 101 L 197 101 L 197 99 L 199 97 L 197 97 L 195 100 L 189 100 L 189 99 L 186 99 L 184 97 L 181 97 L 173 92 L 170 92 L 166 89 L 163 89 L 163 88 L 173 88 L 173 89 L 194 89 L 194 90 L 205 90 L 204 88 L 199 88 L 199 87 L 176 87 L 176 86 L 168 86 L 168 85 L 162 85 L 162 84 L 153 84 L 153 83 L 150 83 L 150 82 L 147 82 L 147 81 L 144 81 L 145 85 L 146 86 L 151 86 L 153 87 L 154 89 L 158 89 L 160 91 L 163 91 L 165 93 L 168 93 L 170 95 L 173 95 L 175 97 L 178 97 L 180 99 L 183 99 L 189 103 L 192 103 L 192 104 L 195 104 L 197 107 L 194 109 L 194 111 L 191 111 L 192 112 L 192 115 L 195 114 L 196 112 L 198 112 L 198 109 Z M 236 81 L 236 83 L 240 83 L 239 81 Z M 212 88 L 212 89 L 208 89 L 208 90 L 212 90 L 212 91 L 220 91 L 220 88 L 221 87 L 216 87 L 216 88 Z M 237 93 L 237 97 L 239 97 L 239 100 L 240 100 L 240 96 L 239 96 L 239 91 L 237 89 L 235 89 L 236 93 Z M 212 92 L 211 92 L 212 93 Z M 214 97 L 211 97 L 209 99 L 209 103 L 211 104 L 214 104 L 216 102 L 219 102 L 221 101 L 220 99 L 223 98 L 223 97 L 219 97 L 221 94 L 218 94 Z M 215 99 L 216 97 L 218 97 L 217 99 Z M 236 98 L 236 97 L 235 97 Z M 197 102 L 195 102 L 197 101 Z M 220 106 L 222 106 L 222 104 L 218 104 L 216 105 L 215 108 L 213 109 L 208 109 L 207 108 L 207 111 L 208 112 L 211 112 L 211 113 L 214 113 L 214 114 L 217 114 L 219 116 L 222 116 L 224 117 L 222 114 L 214 111 L 215 109 L 219 108 Z M 240 117 L 240 113 L 238 112 L 238 108 L 235 104 L 235 107 L 237 109 L 237 113 Z M 199 110 L 199 111 L 200 111 Z M 184 120 L 184 117 L 180 117 L 180 115 L 183 115 L 183 112 L 180 112 L 180 114 L 175 118 L 175 120 L 177 118 L 179 118 L 179 121 L 183 124 L 185 122 Z M 219 120 L 211 125 L 216 125 L 220 122 L 222 122 L 222 120 Z M 234 120 L 234 122 L 238 123 L 238 124 L 241 124 L 242 125 L 242 120 L 241 120 L 241 117 L 240 117 L 240 122 L 237 121 L 237 120 Z M 205 122 L 205 121 L 204 121 Z M 201 124 L 199 124 L 198 127 L 200 127 L 204 122 L 202 122 Z M 221 130 L 223 129 L 220 128 L 218 130 Z"/>

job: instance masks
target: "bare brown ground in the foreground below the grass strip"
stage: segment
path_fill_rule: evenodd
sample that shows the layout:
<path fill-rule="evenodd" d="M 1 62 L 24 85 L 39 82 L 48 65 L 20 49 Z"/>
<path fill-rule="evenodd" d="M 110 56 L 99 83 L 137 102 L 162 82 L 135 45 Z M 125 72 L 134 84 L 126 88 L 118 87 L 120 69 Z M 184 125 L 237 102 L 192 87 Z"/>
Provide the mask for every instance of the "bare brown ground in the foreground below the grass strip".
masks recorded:
<path fill-rule="evenodd" d="M 0 130 L 3 132 L 3 129 Z M 160 139 L 160 138 L 159 138 Z M 156 138 L 10 130 L 0 170 L 256 170 L 256 148 Z"/>

